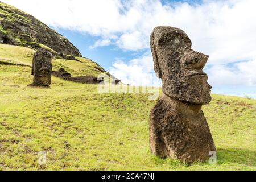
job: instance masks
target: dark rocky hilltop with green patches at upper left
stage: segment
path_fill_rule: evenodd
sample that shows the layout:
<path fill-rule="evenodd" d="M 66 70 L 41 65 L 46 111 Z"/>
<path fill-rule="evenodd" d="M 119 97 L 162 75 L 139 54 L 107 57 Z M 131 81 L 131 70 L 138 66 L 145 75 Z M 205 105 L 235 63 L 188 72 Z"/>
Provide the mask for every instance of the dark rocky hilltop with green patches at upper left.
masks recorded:
<path fill-rule="evenodd" d="M 0 43 L 44 48 L 53 55 L 81 56 L 68 39 L 33 16 L 0 1 Z"/>

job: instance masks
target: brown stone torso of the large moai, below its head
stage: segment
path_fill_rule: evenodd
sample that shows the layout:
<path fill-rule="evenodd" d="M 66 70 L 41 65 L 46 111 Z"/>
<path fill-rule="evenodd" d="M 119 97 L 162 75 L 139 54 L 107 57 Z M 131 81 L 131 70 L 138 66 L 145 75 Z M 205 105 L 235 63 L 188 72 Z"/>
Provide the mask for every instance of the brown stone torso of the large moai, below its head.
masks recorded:
<path fill-rule="evenodd" d="M 208 159 L 216 148 L 201 106 L 163 94 L 151 110 L 151 152 L 189 164 Z"/>

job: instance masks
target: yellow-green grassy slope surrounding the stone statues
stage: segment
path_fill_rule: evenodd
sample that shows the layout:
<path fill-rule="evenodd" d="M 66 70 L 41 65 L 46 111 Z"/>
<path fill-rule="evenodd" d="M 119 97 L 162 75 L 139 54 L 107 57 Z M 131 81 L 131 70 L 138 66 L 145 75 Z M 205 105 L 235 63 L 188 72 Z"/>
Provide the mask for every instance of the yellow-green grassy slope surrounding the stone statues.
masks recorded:
<path fill-rule="evenodd" d="M 0 44 L 0 63 L 30 65 L 33 51 Z M 53 60 L 53 69 L 97 75 L 93 62 Z M 75 63 L 75 64 L 74 64 Z M 82 67 L 81 67 L 82 65 Z M 0 169 L 255 170 L 256 101 L 213 95 L 204 106 L 218 150 L 217 165 L 188 166 L 150 154 L 147 94 L 98 94 L 97 85 L 52 77 L 32 89 L 30 67 L 0 64 Z M 38 152 L 47 154 L 39 166 Z"/>

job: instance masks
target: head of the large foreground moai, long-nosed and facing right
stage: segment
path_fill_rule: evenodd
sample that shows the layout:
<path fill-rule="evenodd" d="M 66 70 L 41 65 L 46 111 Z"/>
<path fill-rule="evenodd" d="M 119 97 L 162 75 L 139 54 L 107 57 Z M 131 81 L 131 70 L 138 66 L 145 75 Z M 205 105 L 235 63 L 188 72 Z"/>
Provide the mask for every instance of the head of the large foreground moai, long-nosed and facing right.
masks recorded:
<path fill-rule="evenodd" d="M 191 40 L 183 30 L 156 27 L 150 45 L 164 94 L 190 104 L 208 104 L 212 100 L 212 87 L 203 72 L 209 56 L 193 51 Z"/>

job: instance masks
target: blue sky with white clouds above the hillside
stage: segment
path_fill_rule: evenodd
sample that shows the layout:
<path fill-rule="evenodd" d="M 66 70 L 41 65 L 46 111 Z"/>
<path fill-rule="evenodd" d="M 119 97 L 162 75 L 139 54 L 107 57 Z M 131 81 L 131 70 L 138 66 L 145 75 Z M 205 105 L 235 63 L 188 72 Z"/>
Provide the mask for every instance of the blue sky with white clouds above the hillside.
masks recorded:
<path fill-rule="evenodd" d="M 212 92 L 256 98 L 255 0 L 1 0 L 67 37 L 126 84 L 159 84 L 150 34 L 179 27 L 209 55 Z"/>

